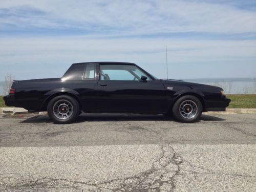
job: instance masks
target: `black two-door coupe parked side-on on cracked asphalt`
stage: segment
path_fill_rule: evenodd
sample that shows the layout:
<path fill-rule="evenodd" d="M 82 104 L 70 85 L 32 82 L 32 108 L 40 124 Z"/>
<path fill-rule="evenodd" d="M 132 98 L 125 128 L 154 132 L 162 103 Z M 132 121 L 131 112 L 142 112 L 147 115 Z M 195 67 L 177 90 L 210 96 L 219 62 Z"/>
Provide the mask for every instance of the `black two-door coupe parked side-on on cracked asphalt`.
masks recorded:
<path fill-rule="evenodd" d="M 202 112 L 225 111 L 223 89 L 181 80 L 158 79 L 134 63 L 74 63 L 62 78 L 14 80 L 7 106 L 48 111 L 55 123 L 80 113 L 173 115 L 195 122 Z"/>

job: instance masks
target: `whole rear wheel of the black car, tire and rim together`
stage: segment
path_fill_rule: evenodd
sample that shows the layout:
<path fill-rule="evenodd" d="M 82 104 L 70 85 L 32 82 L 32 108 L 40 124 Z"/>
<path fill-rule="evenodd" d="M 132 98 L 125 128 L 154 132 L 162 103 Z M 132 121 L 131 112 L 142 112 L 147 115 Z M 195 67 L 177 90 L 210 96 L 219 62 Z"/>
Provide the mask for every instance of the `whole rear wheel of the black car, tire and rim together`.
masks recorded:
<path fill-rule="evenodd" d="M 57 106 L 58 108 L 56 108 Z M 62 111 L 59 108 L 61 108 Z M 63 111 L 64 108 L 66 111 Z M 57 124 L 66 124 L 73 122 L 77 118 L 77 116 L 80 113 L 80 107 L 79 103 L 75 98 L 67 95 L 60 95 L 50 100 L 50 102 L 47 105 L 47 112 L 49 117 L 53 120 L 53 122 Z M 67 115 L 63 117 L 63 114 L 65 114 L 65 112 L 67 112 Z"/>

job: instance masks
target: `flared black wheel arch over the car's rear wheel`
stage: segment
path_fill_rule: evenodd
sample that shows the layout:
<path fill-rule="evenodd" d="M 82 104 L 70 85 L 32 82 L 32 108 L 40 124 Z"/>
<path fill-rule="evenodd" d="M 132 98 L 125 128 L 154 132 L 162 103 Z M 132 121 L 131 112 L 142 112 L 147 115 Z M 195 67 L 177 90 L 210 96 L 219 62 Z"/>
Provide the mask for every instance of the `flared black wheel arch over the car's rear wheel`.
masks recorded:
<path fill-rule="evenodd" d="M 75 98 L 77 100 L 78 104 L 79 104 L 80 109 L 81 109 L 81 101 L 79 100 L 79 97 L 78 97 L 79 94 L 76 91 L 74 91 L 74 90 L 72 90 L 72 91 L 63 91 L 63 90 L 61 90 L 61 91 L 54 91 L 52 93 L 51 92 L 52 91 L 50 91 L 48 94 L 46 94 L 48 96 L 45 99 L 45 101 L 42 103 L 40 111 L 47 111 L 47 105 L 50 102 L 50 100 L 53 99 L 54 97 L 61 96 L 61 95 L 67 95 L 67 96 Z"/>

